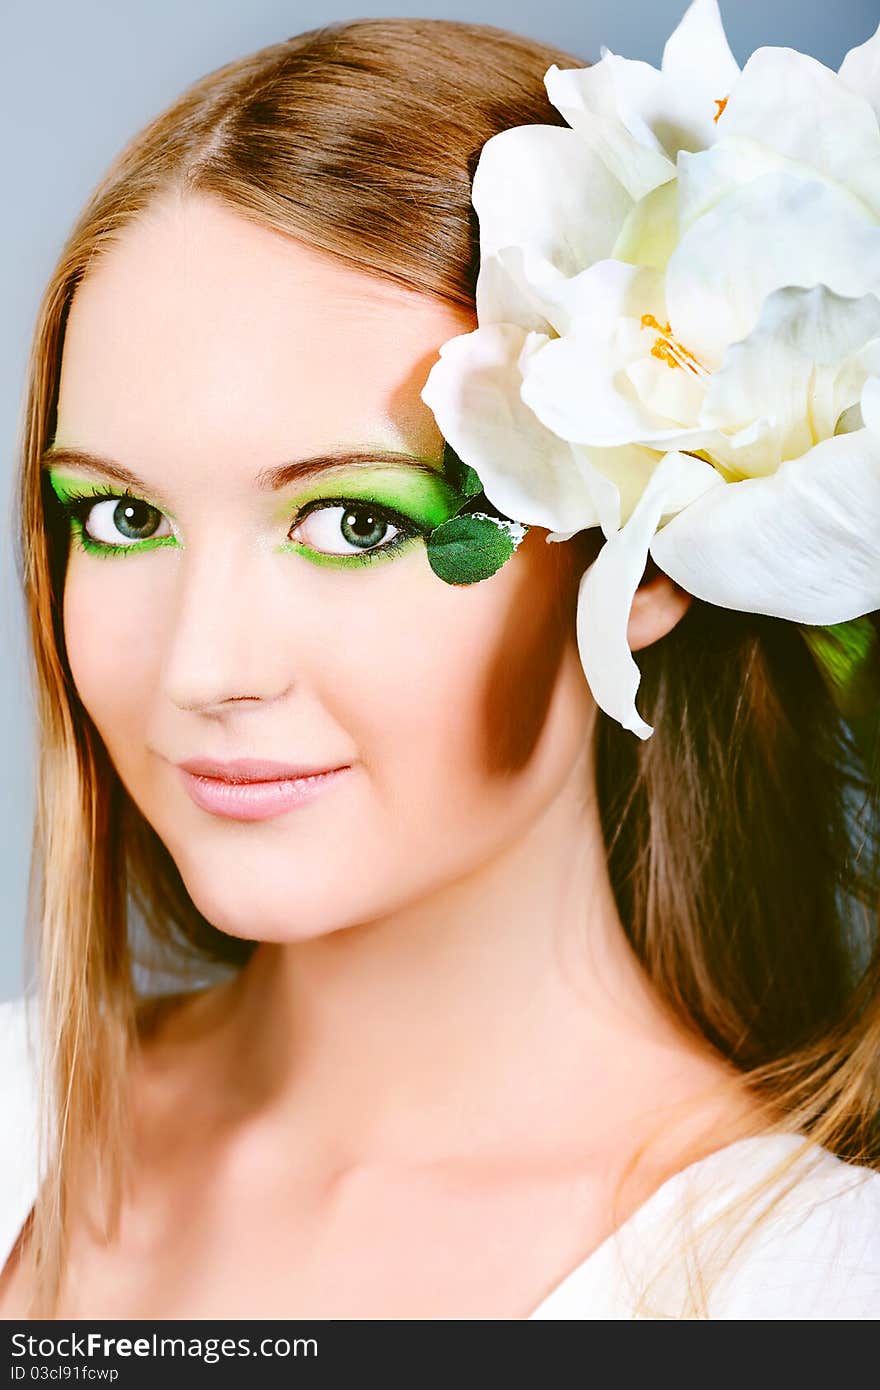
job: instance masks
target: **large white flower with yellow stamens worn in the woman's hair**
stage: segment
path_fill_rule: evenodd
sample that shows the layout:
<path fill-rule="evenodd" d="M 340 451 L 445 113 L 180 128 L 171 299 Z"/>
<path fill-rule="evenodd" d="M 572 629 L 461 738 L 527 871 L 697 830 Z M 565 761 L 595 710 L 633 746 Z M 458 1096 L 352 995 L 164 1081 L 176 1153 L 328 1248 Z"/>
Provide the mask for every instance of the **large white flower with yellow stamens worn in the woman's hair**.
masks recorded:
<path fill-rule="evenodd" d="M 482 147 L 480 327 L 423 399 L 507 516 L 599 525 L 578 648 L 639 738 L 627 642 L 648 555 L 720 607 L 880 607 L 880 28 L 833 72 L 742 71 L 695 0 L 658 71 L 545 76 L 564 126 Z"/>

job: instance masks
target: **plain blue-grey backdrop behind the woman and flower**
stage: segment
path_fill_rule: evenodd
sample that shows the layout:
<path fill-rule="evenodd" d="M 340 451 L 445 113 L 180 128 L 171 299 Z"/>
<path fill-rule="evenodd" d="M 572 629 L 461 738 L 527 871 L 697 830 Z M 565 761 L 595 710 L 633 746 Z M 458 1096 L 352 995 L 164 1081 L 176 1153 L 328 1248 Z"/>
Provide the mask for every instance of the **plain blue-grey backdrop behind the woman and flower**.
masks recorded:
<path fill-rule="evenodd" d="M 22 988 L 33 735 L 10 484 L 25 359 L 39 297 L 88 193 L 120 146 L 192 81 L 222 63 L 332 19 L 427 15 L 516 29 L 598 58 L 606 43 L 660 63 L 687 0 L 427 0 L 388 7 L 306 0 L 0 0 L 0 999 Z M 877 0 L 722 0 L 744 64 L 760 44 L 837 70 L 877 25 Z"/>

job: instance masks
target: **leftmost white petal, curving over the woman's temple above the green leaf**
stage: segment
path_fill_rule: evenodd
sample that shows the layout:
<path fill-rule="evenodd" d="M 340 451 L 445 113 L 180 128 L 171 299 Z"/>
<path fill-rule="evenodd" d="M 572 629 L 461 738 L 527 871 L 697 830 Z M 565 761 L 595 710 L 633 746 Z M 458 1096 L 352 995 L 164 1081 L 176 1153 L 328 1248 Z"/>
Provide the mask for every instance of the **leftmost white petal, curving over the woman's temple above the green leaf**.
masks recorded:
<path fill-rule="evenodd" d="M 421 399 L 499 512 L 527 525 L 580 531 L 601 524 L 587 477 L 589 463 L 520 399 L 523 366 L 545 341 L 512 324 L 450 338 L 439 349 Z"/>

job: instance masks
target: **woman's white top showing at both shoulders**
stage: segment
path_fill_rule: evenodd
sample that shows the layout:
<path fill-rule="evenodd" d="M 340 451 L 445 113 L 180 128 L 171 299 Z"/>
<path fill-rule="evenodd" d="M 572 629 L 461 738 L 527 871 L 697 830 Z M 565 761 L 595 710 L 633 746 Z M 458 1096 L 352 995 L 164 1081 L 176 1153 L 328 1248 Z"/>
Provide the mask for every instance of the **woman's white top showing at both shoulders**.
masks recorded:
<path fill-rule="evenodd" d="M 0 1269 L 38 1191 L 38 1019 L 36 1008 L 25 1012 L 26 1004 L 24 997 L 0 1004 L 0 1113 L 7 1120 L 0 1133 Z M 28 1022 L 33 1045 L 28 1042 Z M 694 1314 L 687 1304 L 687 1266 L 680 1255 L 653 1287 L 648 1311 L 634 1308 L 633 1289 L 644 1287 L 639 1279 L 656 1273 L 665 1251 L 681 1250 L 688 1212 L 695 1211 L 702 1225 L 805 1144 L 801 1134 L 760 1134 L 676 1173 L 569 1273 L 530 1319 L 880 1318 L 880 1173 L 844 1163 L 815 1144 L 795 1159 L 788 1179 L 776 1180 L 769 1190 L 779 1197 L 773 1212 L 710 1283 L 703 1314 Z M 766 1201 L 767 1195 L 747 1213 L 745 1230 Z"/>

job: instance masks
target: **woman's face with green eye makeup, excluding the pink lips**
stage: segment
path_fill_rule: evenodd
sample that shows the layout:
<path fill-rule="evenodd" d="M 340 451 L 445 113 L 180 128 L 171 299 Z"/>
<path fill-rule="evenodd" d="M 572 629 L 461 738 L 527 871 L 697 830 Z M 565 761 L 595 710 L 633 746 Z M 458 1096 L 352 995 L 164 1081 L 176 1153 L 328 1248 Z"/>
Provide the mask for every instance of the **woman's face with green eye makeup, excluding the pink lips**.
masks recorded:
<path fill-rule="evenodd" d="M 595 706 L 570 546 L 532 530 L 495 575 L 450 585 L 418 534 L 455 510 L 420 389 L 474 327 L 202 197 L 157 203 L 75 295 L 54 450 L 128 470 L 138 500 L 54 459 L 85 527 L 70 663 L 131 798 L 227 933 L 295 940 L 413 903 L 582 776 Z M 193 758 L 346 770 L 245 820 L 193 801 L 175 766 Z"/>

